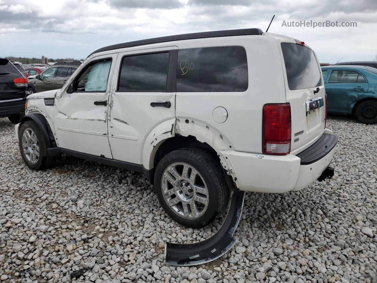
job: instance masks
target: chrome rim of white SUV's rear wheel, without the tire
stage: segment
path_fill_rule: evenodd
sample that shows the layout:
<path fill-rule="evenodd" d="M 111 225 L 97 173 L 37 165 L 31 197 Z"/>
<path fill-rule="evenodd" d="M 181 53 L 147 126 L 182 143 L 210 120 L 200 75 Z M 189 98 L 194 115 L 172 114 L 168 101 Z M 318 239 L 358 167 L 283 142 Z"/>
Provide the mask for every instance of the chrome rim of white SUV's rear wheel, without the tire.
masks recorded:
<path fill-rule="evenodd" d="M 175 162 L 165 168 L 161 189 L 167 205 L 180 217 L 196 219 L 208 208 L 207 185 L 199 172 L 185 162 Z"/>

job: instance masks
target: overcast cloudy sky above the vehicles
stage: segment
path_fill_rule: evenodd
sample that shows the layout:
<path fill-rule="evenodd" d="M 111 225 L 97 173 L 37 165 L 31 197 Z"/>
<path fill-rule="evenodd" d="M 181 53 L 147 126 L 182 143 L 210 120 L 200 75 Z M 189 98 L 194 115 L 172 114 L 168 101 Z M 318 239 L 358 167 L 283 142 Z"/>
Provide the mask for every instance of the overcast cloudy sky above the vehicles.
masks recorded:
<path fill-rule="evenodd" d="M 376 57 L 376 0 L 0 0 L 0 57 L 85 58 L 103 46 L 144 38 L 265 31 L 274 14 L 269 31 L 306 42 L 320 62 Z M 300 20 L 357 27 L 283 26 Z"/>

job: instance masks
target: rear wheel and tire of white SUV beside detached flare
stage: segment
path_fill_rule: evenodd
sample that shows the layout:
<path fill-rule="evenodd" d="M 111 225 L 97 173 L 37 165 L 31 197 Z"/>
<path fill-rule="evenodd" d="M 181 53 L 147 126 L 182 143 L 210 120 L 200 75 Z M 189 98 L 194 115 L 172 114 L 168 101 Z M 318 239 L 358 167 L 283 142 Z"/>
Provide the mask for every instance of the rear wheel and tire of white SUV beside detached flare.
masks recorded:
<path fill-rule="evenodd" d="M 207 226 L 228 205 L 229 188 L 220 163 L 201 149 L 165 155 L 156 166 L 154 181 L 164 211 L 189 228 Z"/>

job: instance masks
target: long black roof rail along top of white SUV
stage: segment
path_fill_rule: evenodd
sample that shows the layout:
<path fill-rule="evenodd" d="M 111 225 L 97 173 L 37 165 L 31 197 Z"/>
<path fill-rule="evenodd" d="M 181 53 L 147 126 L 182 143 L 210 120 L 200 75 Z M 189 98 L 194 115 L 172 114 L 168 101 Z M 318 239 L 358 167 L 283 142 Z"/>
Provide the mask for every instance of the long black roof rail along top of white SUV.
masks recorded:
<path fill-rule="evenodd" d="M 142 39 L 142 40 L 109 45 L 109 46 L 97 49 L 96 51 L 90 53 L 89 56 L 98 52 L 109 51 L 109 50 L 119 49 L 119 48 L 126 48 L 126 47 L 134 47 L 134 46 L 139 46 L 139 45 L 147 45 L 147 44 L 153 44 L 153 43 L 162 43 L 162 42 L 170 42 L 170 41 L 178 41 L 178 40 L 197 39 L 197 38 L 225 37 L 225 36 L 238 36 L 238 35 L 262 35 L 262 34 L 263 32 L 261 29 L 252 28 L 252 29 L 230 29 L 230 30 L 225 30 L 225 31 L 206 31 L 206 32 L 195 32 L 192 34 L 168 35 L 168 36 L 163 36 L 163 37 L 155 37 L 155 38 Z"/>

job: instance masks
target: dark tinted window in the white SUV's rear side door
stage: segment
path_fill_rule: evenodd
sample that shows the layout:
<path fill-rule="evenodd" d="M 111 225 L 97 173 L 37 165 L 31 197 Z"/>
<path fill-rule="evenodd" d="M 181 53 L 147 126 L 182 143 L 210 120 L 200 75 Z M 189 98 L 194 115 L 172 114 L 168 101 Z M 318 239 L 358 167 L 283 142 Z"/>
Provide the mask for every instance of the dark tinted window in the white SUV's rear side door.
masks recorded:
<path fill-rule="evenodd" d="M 169 52 L 124 57 L 118 91 L 165 92 Z"/>

